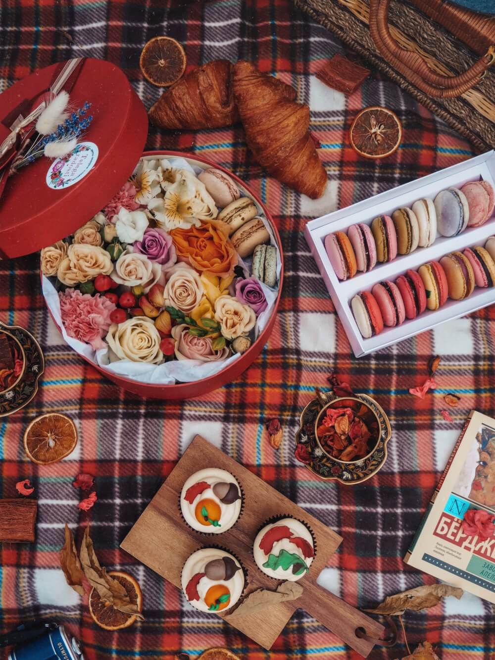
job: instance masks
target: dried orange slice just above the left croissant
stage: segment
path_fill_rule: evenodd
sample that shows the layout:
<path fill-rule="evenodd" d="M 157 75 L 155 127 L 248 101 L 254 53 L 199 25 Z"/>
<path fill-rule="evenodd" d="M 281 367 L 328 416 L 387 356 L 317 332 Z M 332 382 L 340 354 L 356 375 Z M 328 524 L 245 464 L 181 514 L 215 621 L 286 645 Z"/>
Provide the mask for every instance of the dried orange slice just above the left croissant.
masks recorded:
<path fill-rule="evenodd" d="M 144 77 L 158 87 L 177 82 L 185 71 L 184 49 L 171 37 L 154 37 L 145 44 L 139 57 Z"/>

